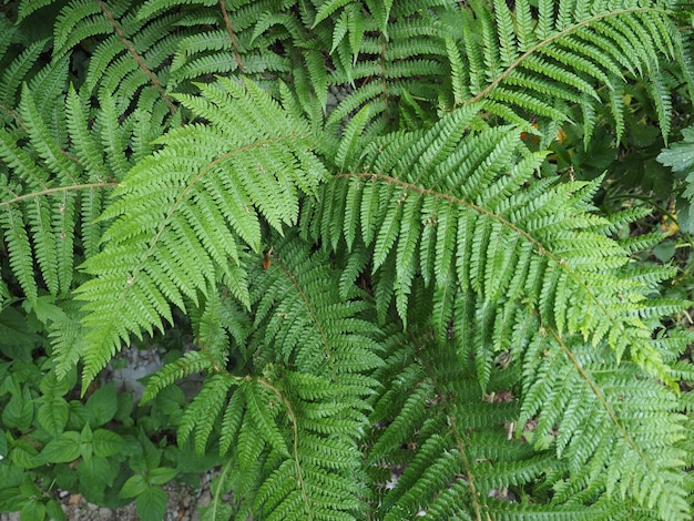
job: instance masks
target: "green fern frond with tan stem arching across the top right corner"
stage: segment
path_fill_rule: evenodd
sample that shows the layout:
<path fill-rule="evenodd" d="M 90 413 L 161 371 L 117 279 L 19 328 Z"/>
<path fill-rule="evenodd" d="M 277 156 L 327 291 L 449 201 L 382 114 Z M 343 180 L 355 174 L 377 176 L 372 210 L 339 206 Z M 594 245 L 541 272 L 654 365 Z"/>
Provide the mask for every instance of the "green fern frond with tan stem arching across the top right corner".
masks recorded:
<path fill-rule="evenodd" d="M 503 2 L 497 2 L 494 27 L 484 34 L 499 35 L 500 40 L 488 37 L 478 43 L 467 32 L 458 37 L 460 44 L 465 42 L 466 45 L 470 74 L 479 70 L 478 57 L 481 54 L 487 57 L 487 70 L 490 71 L 486 81 L 470 82 L 476 89 L 470 91 L 468 101 L 502 101 L 516 105 L 521 113 L 531 111 L 531 114 L 561 120 L 565 116 L 552 111 L 553 100 L 580 103 L 578 100 L 583 95 L 582 106 L 602 103 L 599 85 L 606 85 L 609 93 L 619 90 L 623 78 L 620 71 L 626 68 L 634 74 L 653 75 L 649 85 L 659 105 L 659 121 L 667 135 L 670 109 L 663 104 L 667 96 L 657 92 L 662 88 L 655 63 L 657 55 L 671 53 L 678 42 L 672 19 L 656 6 L 625 2 L 619 9 L 605 6 L 589 11 L 572 9 L 571 4 L 559 2 L 557 9 L 552 2 L 542 4 L 533 29 L 528 2 L 517 3 L 514 13 L 510 13 Z M 476 14 L 483 20 L 489 17 L 484 8 L 476 9 Z M 467 13 L 463 11 L 461 16 Z M 516 29 L 512 20 L 517 22 Z M 465 27 L 465 31 L 476 31 L 474 25 Z M 489 69 L 492 61 L 503 65 L 498 70 Z M 551 90 L 551 94 L 544 91 L 549 96 L 543 93 L 544 88 Z M 529 98 L 528 91 L 539 95 Z M 586 100 L 586 95 L 593 101 Z M 613 108 L 613 113 L 618 110 L 619 106 Z M 584 116 L 584 124 L 590 126 L 593 116 L 590 113 Z M 621 113 L 615 118 L 619 124 Z"/>

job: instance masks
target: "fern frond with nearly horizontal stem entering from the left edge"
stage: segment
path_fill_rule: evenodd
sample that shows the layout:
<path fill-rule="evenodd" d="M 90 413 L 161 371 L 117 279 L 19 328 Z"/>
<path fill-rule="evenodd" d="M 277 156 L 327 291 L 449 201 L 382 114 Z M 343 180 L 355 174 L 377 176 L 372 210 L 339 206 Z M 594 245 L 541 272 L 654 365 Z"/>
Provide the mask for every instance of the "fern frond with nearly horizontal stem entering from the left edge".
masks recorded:
<path fill-rule="evenodd" d="M 67 69 L 67 61 L 62 68 Z M 121 126 L 118 118 L 113 118 L 116 121 L 109 131 L 122 141 L 118 149 L 109 150 L 91 132 L 99 134 L 101 129 L 85 108 L 84 96 L 74 89 L 67 98 L 63 94 L 67 71 L 53 72 L 48 68 L 45 72 L 40 74 L 45 90 L 35 94 L 24 85 L 17 121 L 0 129 L 0 155 L 11 168 L 0 211 L 8 212 L 6 241 L 10 254 L 23 257 L 12 262 L 30 299 L 37 285 L 25 277 L 33 273 L 34 262 L 52 295 L 64 295 L 71 289 L 75 258 L 99 251 L 101 226 L 92 223 L 102 212 L 103 191 L 113 187 L 113 180 L 124 175 L 123 170 L 112 168 L 114 163 L 109 164 L 113 152 L 118 150 L 122 154 L 118 167 L 130 168 L 125 156 L 131 135 L 127 125 Z M 59 94 L 49 103 L 43 96 L 52 89 Z M 57 113 L 61 115 L 55 116 Z M 102 116 L 109 114 L 105 111 Z M 23 185 L 22 191 L 12 190 L 14 183 Z M 21 219 L 18 211 L 23 214 Z M 20 225 L 25 228 L 23 233 L 17 228 Z"/>

